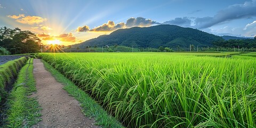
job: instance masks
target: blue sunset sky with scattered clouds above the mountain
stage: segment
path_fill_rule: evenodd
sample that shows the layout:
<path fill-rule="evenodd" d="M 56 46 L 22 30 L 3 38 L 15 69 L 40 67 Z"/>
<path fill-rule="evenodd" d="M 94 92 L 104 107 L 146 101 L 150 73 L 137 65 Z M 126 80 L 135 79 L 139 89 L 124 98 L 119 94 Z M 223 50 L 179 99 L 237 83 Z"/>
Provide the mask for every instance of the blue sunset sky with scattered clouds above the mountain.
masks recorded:
<path fill-rule="evenodd" d="M 256 0 L 0 0 L 0 27 L 44 44 L 73 45 L 121 28 L 178 25 L 214 35 L 256 36 Z"/>

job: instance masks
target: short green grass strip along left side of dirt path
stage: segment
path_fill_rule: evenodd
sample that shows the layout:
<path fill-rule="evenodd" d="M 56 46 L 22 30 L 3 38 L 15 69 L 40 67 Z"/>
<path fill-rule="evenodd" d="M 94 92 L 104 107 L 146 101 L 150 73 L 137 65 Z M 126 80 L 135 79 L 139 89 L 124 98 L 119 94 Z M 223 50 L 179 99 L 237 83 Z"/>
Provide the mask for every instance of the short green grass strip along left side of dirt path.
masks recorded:
<path fill-rule="evenodd" d="M 30 98 L 36 91 L 33 75 L 33 58 L 20 70 L 13 90 L 7 98 L 7 118 L 4 127 L 31 127 L 41 119 L 39 103 L 35 98 Z"/>

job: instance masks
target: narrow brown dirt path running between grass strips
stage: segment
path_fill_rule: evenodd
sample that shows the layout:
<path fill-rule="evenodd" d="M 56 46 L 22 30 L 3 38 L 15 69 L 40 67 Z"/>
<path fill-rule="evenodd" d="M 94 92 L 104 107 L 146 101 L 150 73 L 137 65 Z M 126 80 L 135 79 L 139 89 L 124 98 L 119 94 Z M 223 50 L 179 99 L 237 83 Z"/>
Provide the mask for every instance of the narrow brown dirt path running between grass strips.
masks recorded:
<path fill-rule="evenodd" d="M 46 71 L 39 59 L 34 59 L 37 97 L 43 110 L 42 119 L 35 127 L 99 127 L 94 119 L 85 117 L 79 102 L 62 89 L 63 85 Z"/>

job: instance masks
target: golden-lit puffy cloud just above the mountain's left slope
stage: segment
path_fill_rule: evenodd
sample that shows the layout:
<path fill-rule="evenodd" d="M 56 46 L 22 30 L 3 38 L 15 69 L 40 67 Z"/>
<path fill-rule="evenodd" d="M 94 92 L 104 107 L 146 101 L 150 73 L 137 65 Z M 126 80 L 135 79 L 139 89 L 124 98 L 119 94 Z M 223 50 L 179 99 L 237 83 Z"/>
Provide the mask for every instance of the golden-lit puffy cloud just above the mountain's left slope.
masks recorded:
<path fill-rule="evenodd" d="M 90 31 L 114 31 L 120 28 L 125 28 L 124 22 L 117 23 L 117 25 L 115 25 L 114 21 L 109 20 L 108 23 L 104 23 L 102 26 L 95 27 Z"/>

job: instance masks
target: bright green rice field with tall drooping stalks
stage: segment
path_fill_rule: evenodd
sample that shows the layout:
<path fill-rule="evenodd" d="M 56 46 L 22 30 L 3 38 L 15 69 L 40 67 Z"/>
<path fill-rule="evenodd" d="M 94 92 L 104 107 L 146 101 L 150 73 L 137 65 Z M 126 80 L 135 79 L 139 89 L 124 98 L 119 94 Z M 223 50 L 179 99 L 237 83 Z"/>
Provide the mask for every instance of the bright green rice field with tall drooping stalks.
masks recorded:
<path fill-rule="evenodd" d="M 126 127 L 256 127 L 256 59 L 245 54 L 217 58 L 220 54 L 233 53 L 38 57 Z"/>

